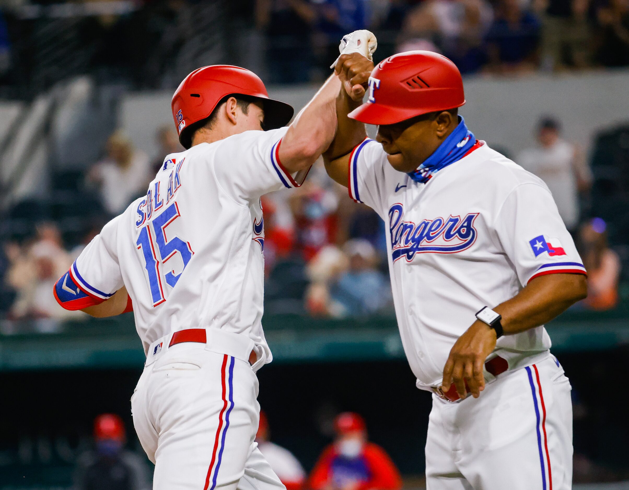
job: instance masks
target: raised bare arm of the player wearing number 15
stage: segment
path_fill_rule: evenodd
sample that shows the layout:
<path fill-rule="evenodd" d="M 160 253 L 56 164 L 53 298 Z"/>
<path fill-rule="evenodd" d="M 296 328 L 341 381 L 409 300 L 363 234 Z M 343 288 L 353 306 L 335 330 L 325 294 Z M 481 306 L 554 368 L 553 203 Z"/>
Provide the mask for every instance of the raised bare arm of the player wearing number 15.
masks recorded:
<path fill-rule="evenodd" d="M 288 171 L 305 170 L 330 146 L 337 131 L 340 87 L 338 77 L 331 75 L 292 121 L 279 148 L 279 159 Z"/>

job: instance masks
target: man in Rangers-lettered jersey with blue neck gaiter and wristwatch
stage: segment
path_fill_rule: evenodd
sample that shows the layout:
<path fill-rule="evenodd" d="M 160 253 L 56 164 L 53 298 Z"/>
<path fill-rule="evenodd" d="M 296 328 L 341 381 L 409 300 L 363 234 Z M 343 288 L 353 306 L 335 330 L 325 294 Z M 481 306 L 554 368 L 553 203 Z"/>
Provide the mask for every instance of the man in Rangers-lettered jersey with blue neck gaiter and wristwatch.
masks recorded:
<path fill-rule="evenodd" d="M 448 58 L 399 53 L 364 77 L 370 66 L 338 60 L 369 99 L 345 97 L 324 156 L 386 224 L 404 351 L 433 393 L 427 487 L 569 489 L 571 386 L 543 324 L 586 296 L 586 270 L 552 195 L 470 132 Z"/>

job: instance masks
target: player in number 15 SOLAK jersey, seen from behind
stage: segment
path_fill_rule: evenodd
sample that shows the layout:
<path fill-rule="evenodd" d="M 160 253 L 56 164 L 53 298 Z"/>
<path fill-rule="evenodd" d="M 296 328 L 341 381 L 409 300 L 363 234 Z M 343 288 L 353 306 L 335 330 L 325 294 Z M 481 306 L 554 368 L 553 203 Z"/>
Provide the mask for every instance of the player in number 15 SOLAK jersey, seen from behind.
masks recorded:
<path fill-rule="evenodd" d="M 155 490 L 284 488 L 254 442 L 255 371 L 272 359 L 260 196 L 301 185 L 334 136 L 340 86 L 330 77 L 283 127 L 293 109 L 257 75 L 192 72 L 172 98 L 186 151 L 165 158 L 55 285 L 68 309 L 133 310 L 147 361 L 131 409 Z"/>

